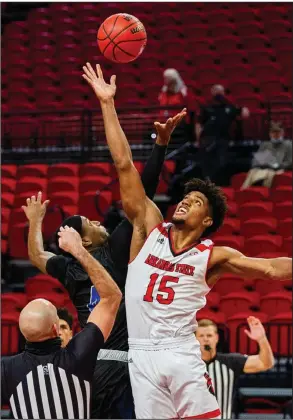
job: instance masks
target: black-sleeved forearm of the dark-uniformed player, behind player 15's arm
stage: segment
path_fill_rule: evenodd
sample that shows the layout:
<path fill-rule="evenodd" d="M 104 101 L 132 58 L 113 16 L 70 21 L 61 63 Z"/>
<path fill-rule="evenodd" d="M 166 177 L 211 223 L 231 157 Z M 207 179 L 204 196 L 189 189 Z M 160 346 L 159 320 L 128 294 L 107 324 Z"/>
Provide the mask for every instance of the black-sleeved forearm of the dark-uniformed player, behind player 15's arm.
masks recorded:
<path fill-rule="evenodd" d="M 146 166 L 141 175 L 142 184 L 146 195 L 153 198 L 159 184 L 162 166 L 165 160 L 167 146 L 155 144 L 152 154 L 149 157 Z"/>

